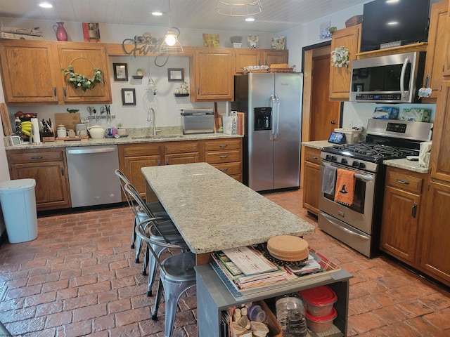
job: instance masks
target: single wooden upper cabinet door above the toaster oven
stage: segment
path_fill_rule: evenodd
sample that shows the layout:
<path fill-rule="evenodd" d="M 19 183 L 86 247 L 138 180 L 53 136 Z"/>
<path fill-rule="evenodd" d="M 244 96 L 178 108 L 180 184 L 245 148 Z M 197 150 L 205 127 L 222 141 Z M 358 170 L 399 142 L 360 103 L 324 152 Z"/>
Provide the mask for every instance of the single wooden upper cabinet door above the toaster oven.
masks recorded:
<path fill-rule="evenodd" d="M 233 100 L 233 50 L 201 48 L 193 56 L 191 100 Z"/>

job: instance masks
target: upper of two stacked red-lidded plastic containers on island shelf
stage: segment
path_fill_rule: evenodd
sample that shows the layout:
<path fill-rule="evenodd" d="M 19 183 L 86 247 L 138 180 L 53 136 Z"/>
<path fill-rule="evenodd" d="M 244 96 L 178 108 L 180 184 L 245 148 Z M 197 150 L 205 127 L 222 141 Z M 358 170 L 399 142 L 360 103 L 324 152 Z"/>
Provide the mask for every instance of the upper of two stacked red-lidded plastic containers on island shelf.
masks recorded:
<path fill-rule="evenodd" d="M 338 300 L 338 296 L 329 286 L 316 286 L 300 293 L 307 304 L 307 312 L 315 317 L 330 315 L 333 304 Z"/>

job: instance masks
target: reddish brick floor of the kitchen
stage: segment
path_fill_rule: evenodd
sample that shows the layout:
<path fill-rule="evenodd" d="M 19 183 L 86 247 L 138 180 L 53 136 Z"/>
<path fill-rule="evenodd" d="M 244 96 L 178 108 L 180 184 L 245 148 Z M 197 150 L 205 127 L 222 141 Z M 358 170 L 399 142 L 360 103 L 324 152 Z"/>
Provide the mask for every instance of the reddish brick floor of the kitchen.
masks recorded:
<path fill-rule="evenodd" d="M 301 190 L 265 196 L 317 224 L 302 209 Z M 164 303 L 152 321 L 154 298 L 134 263 L 131 223 L 127 207 L 39 217 L 37 239 L 1 246 L 0 321 L 13 336 L 163 336 Z M 450 336 L 450 293 L 320 230 L 305 239 L 354 275 L 348 336 Z M 197 336 L 195 295 L 181 297 L 174 337 Z"/>

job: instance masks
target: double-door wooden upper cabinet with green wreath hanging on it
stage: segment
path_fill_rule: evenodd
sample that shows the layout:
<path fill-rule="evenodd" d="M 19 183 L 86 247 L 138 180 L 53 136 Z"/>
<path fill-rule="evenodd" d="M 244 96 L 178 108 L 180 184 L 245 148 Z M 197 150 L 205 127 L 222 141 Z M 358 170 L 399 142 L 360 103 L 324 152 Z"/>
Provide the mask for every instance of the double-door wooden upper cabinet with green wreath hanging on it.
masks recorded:
<path fill-rule="evenodd" d="M 79 58 L 75 60 L 75 58 Z M 84 58 L 84 59 L 83 59 Z M 94 76 L 103 70 L 103 84 L 83 92 L 68 88 L 61 71 L 73 60 L 75 72 Z M 1 76 L 6 103 L 51 105 L 111 103 L 109 63 L 106 48 L 99 44 L 56 41 L 0 41 Z"/>

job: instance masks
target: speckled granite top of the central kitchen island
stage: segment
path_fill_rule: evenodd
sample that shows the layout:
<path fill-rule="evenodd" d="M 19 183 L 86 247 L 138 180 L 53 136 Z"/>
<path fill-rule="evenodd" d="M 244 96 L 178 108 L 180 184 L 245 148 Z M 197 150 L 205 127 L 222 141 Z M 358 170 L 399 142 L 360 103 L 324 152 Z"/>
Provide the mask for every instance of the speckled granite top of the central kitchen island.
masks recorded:
<path fill-rule="evenodd" d="M 210 164 L 151 166 L 141 171 L 193 253 L 314 232 L 307 221 Z"/>

